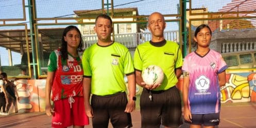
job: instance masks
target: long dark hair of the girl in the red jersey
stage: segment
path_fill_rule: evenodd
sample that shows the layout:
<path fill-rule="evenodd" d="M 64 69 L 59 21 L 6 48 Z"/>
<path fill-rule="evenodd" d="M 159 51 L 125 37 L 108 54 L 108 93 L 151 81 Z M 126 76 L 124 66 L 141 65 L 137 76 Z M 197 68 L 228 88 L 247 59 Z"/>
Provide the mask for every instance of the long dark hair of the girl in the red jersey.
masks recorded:
<path fill-rule="evenodd" d="M 61 38 L 61 48 L 60 48 L 60 53 L 61 53 L 61 58 L 62 59 L 67 59 L 67 42 L 64 40 L 64 36 L 66 36 L 66 33 L 71 31 L 71 30 L 76 30 L 79 35 L 80 35 L 80 42 L 79 42 L 79 46 L 77 48 L 77 51 L 82 51 L 82 36 L 81 36 L 81 32 L 79 31 L 79 29 L 76 26 L 67 26 L 62 34 L 62 38 Z"/>

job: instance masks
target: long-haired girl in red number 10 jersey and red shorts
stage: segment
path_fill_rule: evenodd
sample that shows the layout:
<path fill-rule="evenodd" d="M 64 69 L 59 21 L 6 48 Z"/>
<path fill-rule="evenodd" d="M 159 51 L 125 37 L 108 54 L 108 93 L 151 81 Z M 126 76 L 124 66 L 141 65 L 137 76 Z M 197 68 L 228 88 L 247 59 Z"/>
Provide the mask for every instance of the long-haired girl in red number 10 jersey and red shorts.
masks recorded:
<path fill-rule="evenodd" d="M 61 48 L 49 56 L 46 80 L 45 111 L 53 116 L 53 127 L 84 127 L 89 119 L 84 111 L 81 65 L 82 38 L 75 26 L 62 35 Z M 50 94 L 54 105 L 50 103 Z"/>

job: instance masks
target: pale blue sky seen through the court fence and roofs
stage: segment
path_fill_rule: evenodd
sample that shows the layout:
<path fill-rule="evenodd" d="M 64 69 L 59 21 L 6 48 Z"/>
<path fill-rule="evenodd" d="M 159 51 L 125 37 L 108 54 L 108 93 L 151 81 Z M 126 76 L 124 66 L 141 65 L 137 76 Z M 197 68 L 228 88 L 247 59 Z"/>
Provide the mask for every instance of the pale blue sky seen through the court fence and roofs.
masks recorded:
<path fill-rule="evenodd" d="M 108 0 L 109 3 L 111 0 Z M 216 12 L 218 9 L 230 3 L 231 0 L 199 0 L 192 1 L 192 8 L 207 7 L 210 12 Z M 22 1 L 21 0 L 0 0 L 0 19 L 2 18 L 23 18 L 22 12 Z M 25 5 L 28 5 L 28 0 L 25 0 Z M 105 0 L 107 3 L 107 0 Z M 158 11 L 162 14 L 177 14 L 179 0 L 114 0 L 114 8 L 138 8 L 140 15 L 149 15 L 152 12 Z M 37 7 L 37 17 L 74 17 L 74 10 L 92 10 L 101 9 L 101 0 L 36 0 Z M 189 3 L 187 3 L 187 8 L 189 8 Z M 26 8 L 26 21 L 20 22 L 6 22 L 6 24 L 16 24 L 16 23 L 27 23 L 28 29 L 28 9 Z M 176 18 L 176 17 L 172 17 Z M 39 23 L 47 23 L 48 21 L 40 21 Z M 0 21 L 0 24 L 3 22 Z M 47 27 L 47 26 L 44 26 Z M 54 27 L 54 26 L 48 26 Z M 59 27 L 59 26 L 55 26 Z M 17 27 L 1 27 L 3 29 L 17 29 Z M 167 23 L 167 28 L 165 30 L 178 30 L 178 23 Z M 8 66 L 9 61 L 7 50 L 0 47 L 0 57 L 1 65 Z M 13 53 L 13 65 L 19 64 L 20 53 Z"/>

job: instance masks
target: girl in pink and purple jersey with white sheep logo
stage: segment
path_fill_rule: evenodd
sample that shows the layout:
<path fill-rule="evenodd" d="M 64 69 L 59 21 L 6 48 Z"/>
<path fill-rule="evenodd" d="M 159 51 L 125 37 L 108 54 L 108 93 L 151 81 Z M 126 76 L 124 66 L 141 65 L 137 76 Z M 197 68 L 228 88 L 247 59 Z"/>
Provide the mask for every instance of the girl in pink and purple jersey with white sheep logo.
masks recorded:
<path fill-rule="evenodd" d="M 208 25 L 195 31 L 197 50 L 187 55 L 183 70 L 184 119 L 190 127 L 214 127 L 219 124 L 220 86 L 226 83 L 226 62 L 209 48 L 212 37 Z"/>

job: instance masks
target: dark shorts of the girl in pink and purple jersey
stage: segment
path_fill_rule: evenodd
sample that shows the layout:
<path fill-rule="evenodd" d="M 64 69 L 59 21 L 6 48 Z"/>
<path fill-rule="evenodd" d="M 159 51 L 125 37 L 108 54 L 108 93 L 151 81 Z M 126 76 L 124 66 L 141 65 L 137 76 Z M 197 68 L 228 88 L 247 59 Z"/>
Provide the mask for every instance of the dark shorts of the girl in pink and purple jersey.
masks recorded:
<path fill-rule="evenodd" d="M 219 113 L 211 113 L 211 114 L 192 114 L 192 122 L 186 123 L 201 125 L 204 126 L 215 126 L 219 124 Z"/>

